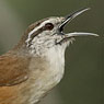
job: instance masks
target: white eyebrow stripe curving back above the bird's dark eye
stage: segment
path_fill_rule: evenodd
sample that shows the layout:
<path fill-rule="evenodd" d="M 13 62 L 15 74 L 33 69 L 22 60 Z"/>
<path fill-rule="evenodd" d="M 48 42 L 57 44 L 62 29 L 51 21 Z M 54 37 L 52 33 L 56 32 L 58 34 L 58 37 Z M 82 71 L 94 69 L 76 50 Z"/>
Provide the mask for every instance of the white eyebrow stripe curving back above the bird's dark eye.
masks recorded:
<path fill-rule="evenodd" d="M 27 44 L 27 46 L 30 45 L 28 42 L 32 39 L 32 38 L 31 38 L 31 35 L 32 35 L 34 32 L 36 32 L 38 28 L 43 27 L 43 26 L 44 26 L 46 23 L 48 23 L 48 22 L 50 22 L 50 20 L 47 20 L 47 21 L 43 22 L 39 26 L 35 27 L 33 31 L 31 31 L 31 32 L 28 33 L 28 37 L 27 37 L 27 39 L 25 41 L 25 43 Z"/>

